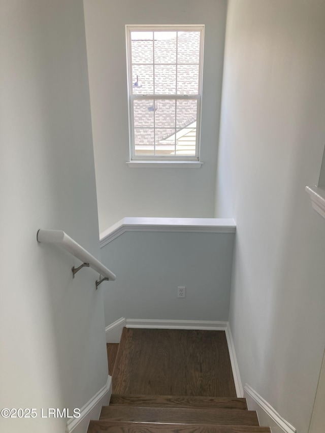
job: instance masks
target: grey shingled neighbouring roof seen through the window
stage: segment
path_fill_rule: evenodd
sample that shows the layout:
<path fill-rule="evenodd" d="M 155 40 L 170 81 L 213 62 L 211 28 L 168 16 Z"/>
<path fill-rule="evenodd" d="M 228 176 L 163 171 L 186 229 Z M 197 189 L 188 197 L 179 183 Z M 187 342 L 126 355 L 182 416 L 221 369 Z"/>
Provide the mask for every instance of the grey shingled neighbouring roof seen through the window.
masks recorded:
<path fill-rule="evenodd" d="M 198 94 L 200 31 L 173 31 L 169 37 L 159 31 L 147 34 L 148 38 L 141 32 L 141 39 L 137 32 L 132 36 L 133 94 Z M 196 121 L 197 100 L 135 99 L 133 115 L 136 147 L 153 145 L 154 126 L 155 144 L 164 145 L 175 132 Z"/>

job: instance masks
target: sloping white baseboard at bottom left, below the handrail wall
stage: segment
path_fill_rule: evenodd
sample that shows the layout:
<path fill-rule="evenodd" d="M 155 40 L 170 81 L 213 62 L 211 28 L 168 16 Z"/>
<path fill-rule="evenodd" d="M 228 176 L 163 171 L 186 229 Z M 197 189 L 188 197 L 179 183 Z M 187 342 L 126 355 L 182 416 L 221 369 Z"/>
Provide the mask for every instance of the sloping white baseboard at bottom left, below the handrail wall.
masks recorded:
<path fill-rule="evenodd" d="M 109 404 L 112 394 L 112 377 L 108 376 L 107 383 L 80 410 L 80 418 L 71 418 L 67 422 L 66 433 L 86 433 L 91 419 L 98 420 L 102 406 Z"/>

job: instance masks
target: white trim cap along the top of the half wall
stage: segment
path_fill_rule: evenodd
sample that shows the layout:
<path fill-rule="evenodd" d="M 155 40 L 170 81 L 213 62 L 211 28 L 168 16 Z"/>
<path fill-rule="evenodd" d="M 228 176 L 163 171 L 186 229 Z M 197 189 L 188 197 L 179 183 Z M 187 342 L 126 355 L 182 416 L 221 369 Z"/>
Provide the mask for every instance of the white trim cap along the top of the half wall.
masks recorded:
<path fill-rule="evenodd" d="M 125 231 L 235 233 L 236 223 L 232 218 L 126 217 L 101 233 L 101 248 L 122 235 Z"/>

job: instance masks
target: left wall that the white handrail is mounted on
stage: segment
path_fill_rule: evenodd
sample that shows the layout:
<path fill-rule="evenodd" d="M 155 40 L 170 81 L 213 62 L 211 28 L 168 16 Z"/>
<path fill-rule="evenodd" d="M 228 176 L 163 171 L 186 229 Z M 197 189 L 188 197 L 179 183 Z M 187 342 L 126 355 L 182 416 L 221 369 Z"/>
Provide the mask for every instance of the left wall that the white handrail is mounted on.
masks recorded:
<path fill-rule="evenodd" d="M 108 377 L 98 275 L 36 241 L 62 229 L 100 256 L 83 3 L 0 8 L 0 407 L 38 411 L 0 424 L 61 433 L 40 409 L 81 408 Z"/>

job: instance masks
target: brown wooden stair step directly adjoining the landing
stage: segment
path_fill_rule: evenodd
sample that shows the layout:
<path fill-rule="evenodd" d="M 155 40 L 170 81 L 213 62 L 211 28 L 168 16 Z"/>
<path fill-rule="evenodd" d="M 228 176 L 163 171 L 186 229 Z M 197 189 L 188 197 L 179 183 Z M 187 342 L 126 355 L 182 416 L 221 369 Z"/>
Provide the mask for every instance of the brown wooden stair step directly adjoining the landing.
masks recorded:
<path fill-rule="evenodd" d="M 235 397 L 112 394 L 110 405 L 127 405 L 146 408 L 177 407 L 247 410 L 246 398 Z"/>

